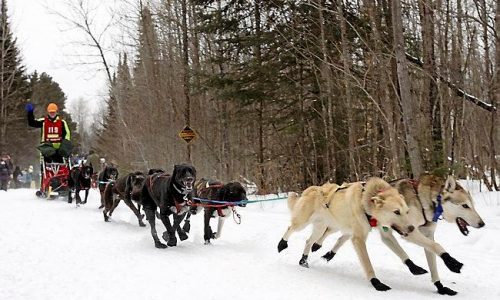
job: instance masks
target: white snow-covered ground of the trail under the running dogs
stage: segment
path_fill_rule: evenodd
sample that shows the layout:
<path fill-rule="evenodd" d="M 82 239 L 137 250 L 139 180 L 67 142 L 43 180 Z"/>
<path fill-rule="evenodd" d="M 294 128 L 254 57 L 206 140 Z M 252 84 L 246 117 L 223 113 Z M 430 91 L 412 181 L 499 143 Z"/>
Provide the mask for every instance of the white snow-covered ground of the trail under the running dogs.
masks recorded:
<path fill-rule="evenodd" d="M 486 222 L 464 237 L 454 224 L 441 224 L 436 239 L 464 263 L 461 274 L 441 260 L 443 284 L 455 299 L 500 299 L 500 193 L 474 194 Z M 375 291 L 365 280 L 350 243 L 329 263 L 320 256 L 331 237 L 298 266 L 309 228 L 276 246 L 289 222 L 286 201 L 240 208 L 241 225 L 228 220 L 222 237 L 203 244 L 202 217 L 192 218 L 191 235 L 177 247 L 154 248 L 149 226 L 139 227 L 123 203 L 113 222 L 97 209 L 98 194 L 79 208 L 62 199 L 41 200 L 34 190 L 0 191 L 0 299 L 443 299 L 429 275 L 413 276 L 380 241 L 368 240 L 378 278 L 392 287 Z M 158 225 L 159 232 L 163 225 Z M 423 250 L 402 242 L 427 268 Z"/>

